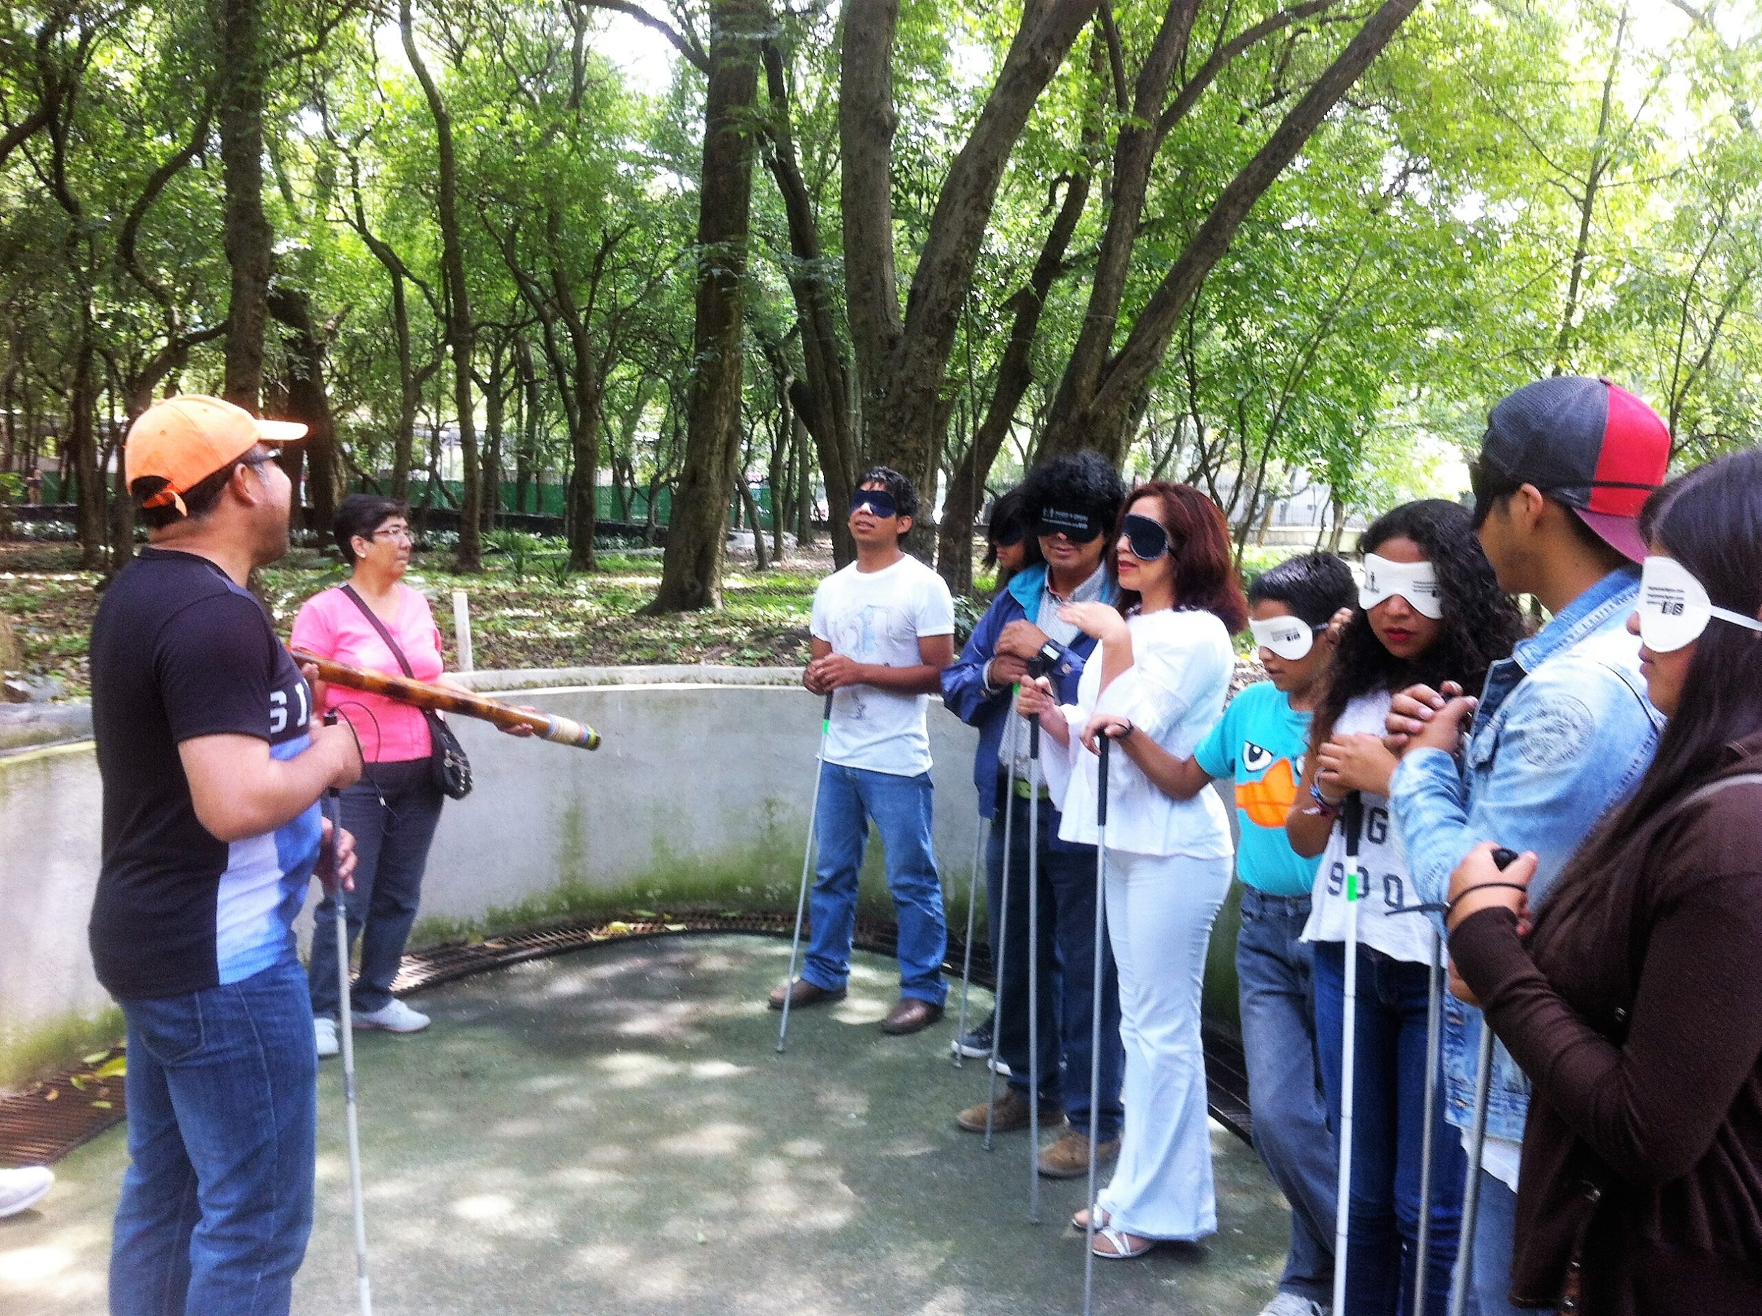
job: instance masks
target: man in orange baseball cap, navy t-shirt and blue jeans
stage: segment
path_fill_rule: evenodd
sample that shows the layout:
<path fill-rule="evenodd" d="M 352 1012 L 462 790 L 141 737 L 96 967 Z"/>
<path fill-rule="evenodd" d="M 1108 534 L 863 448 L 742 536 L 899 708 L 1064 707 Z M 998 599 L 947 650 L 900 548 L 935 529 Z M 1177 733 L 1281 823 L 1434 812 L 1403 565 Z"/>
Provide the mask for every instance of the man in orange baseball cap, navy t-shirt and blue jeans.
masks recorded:
<path fill-rule="evenodd" d="M 361 773 L 245 590 L 287 551 L 270 444 L 303 425 L 208 396 L 129 430 L 148 548 L 92 625 L 104 844 L 92 960 L 129 1022 L 111 1312 L 285 1312 L 312 1230 L 317 1055 L 294 914 L 349 883 L 319 798 Z"/>

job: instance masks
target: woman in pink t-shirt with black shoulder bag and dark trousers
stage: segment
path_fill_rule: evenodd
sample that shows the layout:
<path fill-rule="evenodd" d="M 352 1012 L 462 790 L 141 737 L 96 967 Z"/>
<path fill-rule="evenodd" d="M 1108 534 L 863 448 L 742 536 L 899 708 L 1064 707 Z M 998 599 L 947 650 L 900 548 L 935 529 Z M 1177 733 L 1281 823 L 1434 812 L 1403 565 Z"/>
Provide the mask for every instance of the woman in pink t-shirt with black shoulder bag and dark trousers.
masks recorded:
<path fill-rule="evenodd" d="M 352 668 L 444 680 L 440 631 L 428 599 L 403 583 L 411 566 L 411 525 L 403 504 L 351 493 L 337 509 L 337 544 L 354 571 L 349 585 L 307 599 L 294 618 L 291 647 Z M 372 618 L 366 611 L 372 610 Z M 379 625 L 375 625 L 375 620 Z M 396 641 L 403 662 L 381 634 Z M 428 846 L 440 821 L 440 795 L 430 766 L 432 738 L 423 713 L 382 694 L 314 682 L 319 712 L 338 710 L 361 738 L 366 772 L 342 793 L 342 824 L 354 833 L 354 891 L 345 897 L 349 944 L 361 937 L 361 972 L 351 992 L 354 1025 L 416 1032 L 428 1027 L 391 995 L 403 943 L 416 921 Z M 337 902 L 315 911 L 312 1022 L 319 1055 L 338 1050 Z"/>

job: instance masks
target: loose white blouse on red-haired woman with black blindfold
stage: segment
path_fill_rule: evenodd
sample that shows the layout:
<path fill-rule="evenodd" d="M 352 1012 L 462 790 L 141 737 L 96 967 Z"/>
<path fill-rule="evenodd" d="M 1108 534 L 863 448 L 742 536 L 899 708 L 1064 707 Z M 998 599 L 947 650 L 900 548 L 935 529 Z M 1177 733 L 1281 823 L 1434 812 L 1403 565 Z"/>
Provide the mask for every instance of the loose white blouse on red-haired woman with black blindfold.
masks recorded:
<path fill-rule="evenodd" d="M 1045 738 L 1047 786 L 1064 814 L 1059 837 L 1096 844 L 1096 768 L 1099 759 L 1082 745 L 1082 729 L 1094 713 L 1131 719 L 1133 735 L 1149 736 L 1177 758 L 1189 758 L 1223 715 L 1235 654 L 1230 632 L 1212 613 L 1161 610 L 1126 618 L 1131 629 L 1131 666 L 1101 689 L 1105 645 L 1096 645 L 1077 685 L 1077 703 L 1064 706 L 1071 743 Z M 1226 860 L 1230 816 L 1216 791 L 1191 800 L 1170 800 L 1115 743 L 1107 768 L 1107 844 L 1129 854 L 1188 854 Z"/>

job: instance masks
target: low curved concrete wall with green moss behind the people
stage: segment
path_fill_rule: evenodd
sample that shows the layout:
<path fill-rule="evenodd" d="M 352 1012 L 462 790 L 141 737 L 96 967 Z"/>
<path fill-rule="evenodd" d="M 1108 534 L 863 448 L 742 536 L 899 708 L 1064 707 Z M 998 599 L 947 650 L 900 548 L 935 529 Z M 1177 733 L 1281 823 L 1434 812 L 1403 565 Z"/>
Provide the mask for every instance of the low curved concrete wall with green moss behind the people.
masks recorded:
<path fill-rule="evenodd" d="M 478 684 L 590 722 L 604 745 L 522 742 L 453 719 L 476 789 L 442 814 L 416 944 L 611 909 L 793 909 L 821 710 L 795 673 L 617 668 Z M 974 747 L 974 731 L 932 701 L 936 849 L 962 920 Z M 86 950 L 99 816 L 90 740 L 0 754 L 0 1085 L 118 1032 Z M 892 911 L 874 844 L 863 904 Z M 310 911 L 301 939 L 308 925 Z M 1228 916 L 1218 932 L 1207 1002 L 1233 1018 Z"/>

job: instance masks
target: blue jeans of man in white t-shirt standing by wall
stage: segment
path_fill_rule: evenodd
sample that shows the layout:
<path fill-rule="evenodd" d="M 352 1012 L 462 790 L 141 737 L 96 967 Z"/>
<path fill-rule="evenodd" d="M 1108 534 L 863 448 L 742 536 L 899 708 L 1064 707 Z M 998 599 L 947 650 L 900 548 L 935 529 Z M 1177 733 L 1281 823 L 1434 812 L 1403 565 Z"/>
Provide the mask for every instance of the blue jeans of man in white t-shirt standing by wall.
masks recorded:
<path fill-rule="evenodd" d="M 943 957 L 948 921 L 930 839 L 930 773 L 895 777 L 867 768 L 819 765 L 819 858 L 811 897 L 812 937 L 802 978 L 837 992 L 851 974 L 856 879 L 874 819 L 886 854 L 886 886 L 899 920 L 900 995 L 941 1006 L 948 995 Z"/>

